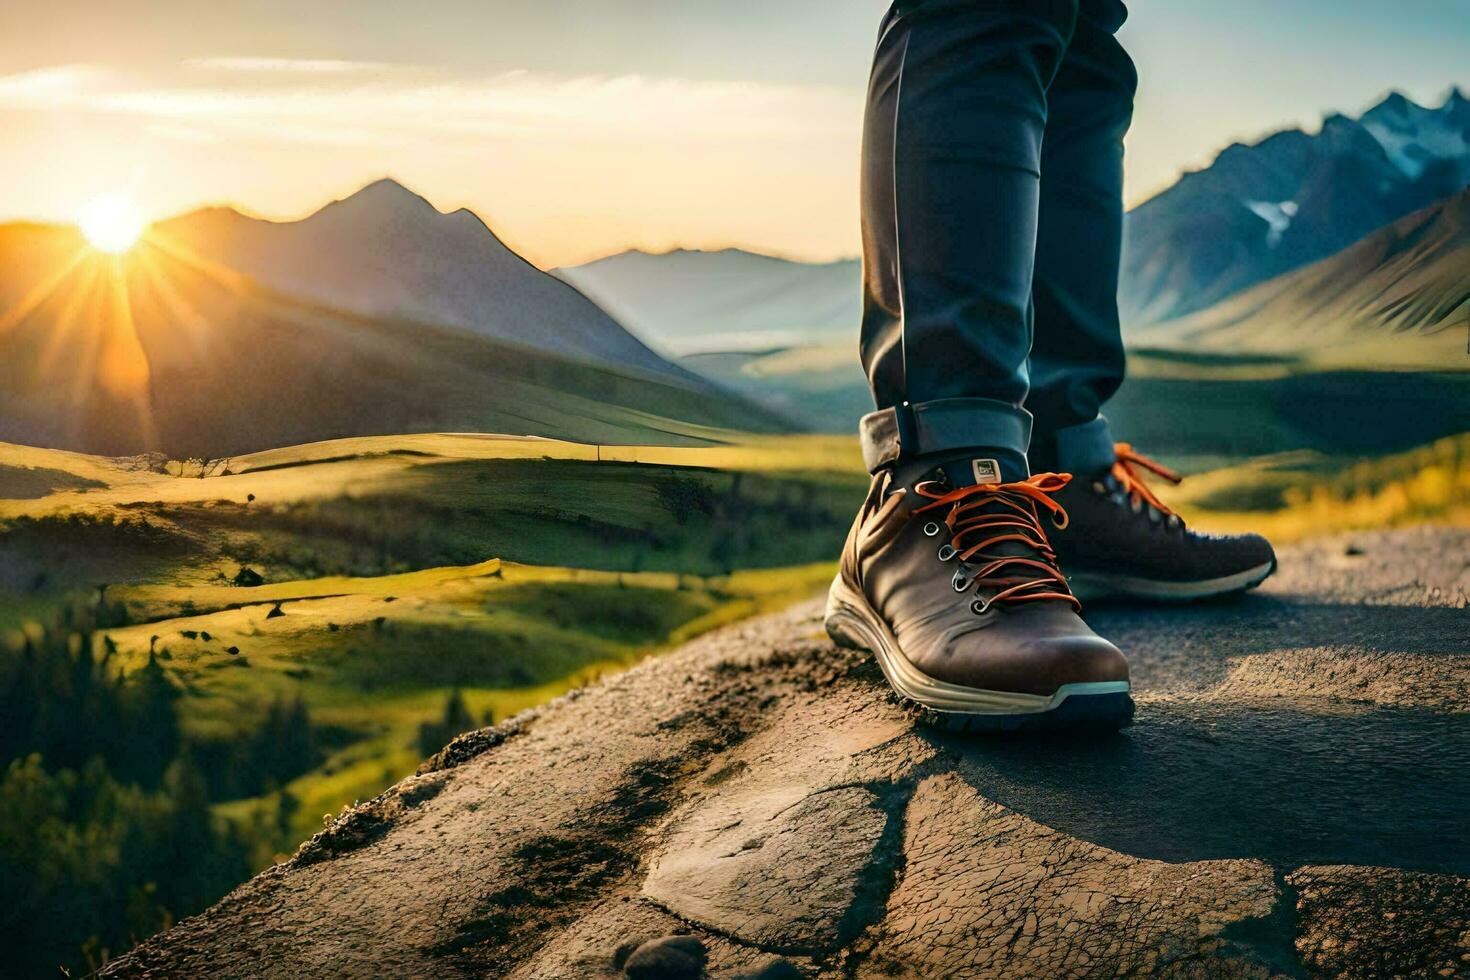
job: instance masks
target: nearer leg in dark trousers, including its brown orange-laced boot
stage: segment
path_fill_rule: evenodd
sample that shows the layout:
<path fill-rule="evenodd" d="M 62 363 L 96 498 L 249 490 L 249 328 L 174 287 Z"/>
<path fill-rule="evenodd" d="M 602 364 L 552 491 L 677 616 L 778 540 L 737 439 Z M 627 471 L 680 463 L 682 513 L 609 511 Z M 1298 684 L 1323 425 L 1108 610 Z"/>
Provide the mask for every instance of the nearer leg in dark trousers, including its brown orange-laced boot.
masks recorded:
<path fill-rule="evenodd" d="M 863 150 L 863 419 L 873 483 L 826 627 L 960 729 L 1132 717 L 1127 661 L 1088 629 L 1028 478 L 1032 259 L 1047 87 L 1076 0 L 900 0 Z"/>

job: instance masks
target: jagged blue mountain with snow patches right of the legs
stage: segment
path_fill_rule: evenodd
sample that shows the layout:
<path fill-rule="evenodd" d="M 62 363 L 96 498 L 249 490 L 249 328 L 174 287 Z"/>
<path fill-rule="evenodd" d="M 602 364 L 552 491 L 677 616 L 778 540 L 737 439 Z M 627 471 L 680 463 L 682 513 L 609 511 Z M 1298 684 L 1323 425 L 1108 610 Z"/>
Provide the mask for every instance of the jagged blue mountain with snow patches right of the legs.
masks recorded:
<path fill-rule="evenodd" d="M 1399 93 L 1358 119 L 1226 147 L 1133 209 L 1120 301 L 1145 326 L 1202 310 L 1330 256 L 1470 182 L 1470 100 L 1424 107 Z"/>

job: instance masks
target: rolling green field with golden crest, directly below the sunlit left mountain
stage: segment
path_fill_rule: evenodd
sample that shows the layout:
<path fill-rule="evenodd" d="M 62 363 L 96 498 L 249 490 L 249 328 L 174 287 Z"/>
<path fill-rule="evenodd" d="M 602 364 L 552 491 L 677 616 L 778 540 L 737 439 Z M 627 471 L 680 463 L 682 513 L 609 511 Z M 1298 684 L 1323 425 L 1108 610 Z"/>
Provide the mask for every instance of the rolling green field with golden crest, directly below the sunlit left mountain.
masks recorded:
<path fill-rule="evenodd" d="M 823 436 L 707 450 L 344 439 L 219 460 L 209 478 L 171 476 L 206 472 L 198 463 L 21 447 L 0 458 L 32 483 L 40 467 L 56 475 L 54 492 L 0 500 L 0 585 L 19 595 L 204 585 L 241 566 L 278 580 L 491 557 L 692 574 L 801 564 L 833 555 L 864 486 L 851 441 Z"/>

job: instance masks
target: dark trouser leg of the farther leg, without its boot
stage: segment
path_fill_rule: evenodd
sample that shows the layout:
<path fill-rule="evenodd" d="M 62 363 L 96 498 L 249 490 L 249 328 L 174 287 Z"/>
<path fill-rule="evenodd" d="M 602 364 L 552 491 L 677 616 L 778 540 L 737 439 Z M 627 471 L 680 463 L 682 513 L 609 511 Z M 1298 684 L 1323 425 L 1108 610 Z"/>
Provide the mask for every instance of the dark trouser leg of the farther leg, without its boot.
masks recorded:
<path fill-rule="evenodd" d="M 1091 476 L 1113 463 L 1100 408 L 1123 382 L 1117 269 L 1123 234 L 1123 134 L 1138 75 L 1113 32 L 1117 0 L 1082 0 L 1047 93 L 1036 234 L 1030 463 Z"/>

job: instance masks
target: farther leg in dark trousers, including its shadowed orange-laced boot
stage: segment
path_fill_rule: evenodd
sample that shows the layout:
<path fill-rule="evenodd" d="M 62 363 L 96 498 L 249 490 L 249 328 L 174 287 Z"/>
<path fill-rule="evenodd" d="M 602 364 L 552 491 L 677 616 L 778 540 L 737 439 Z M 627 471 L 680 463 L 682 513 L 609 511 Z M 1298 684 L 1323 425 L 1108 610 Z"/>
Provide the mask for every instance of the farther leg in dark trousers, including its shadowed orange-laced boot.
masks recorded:
<path fill-rule="evenodd" d="M 1050 532 L 1085 598 L 1188 599 L 1239 592 L 1276 567 L 1257 535 L 1197 535 L 1145 483 L 1169 470 L 1113 442 L 1104 403 L 1123 382 L 1117 272 L 1123 232 L 1123 134 L 1136 73 L 1113 32 L 1119 0 L 1080 0 L 1067 56 L 1047 93 L 1036 234 L 1035 342 L 1026 408 L 1030 466 L 1070 473 Z"/>

